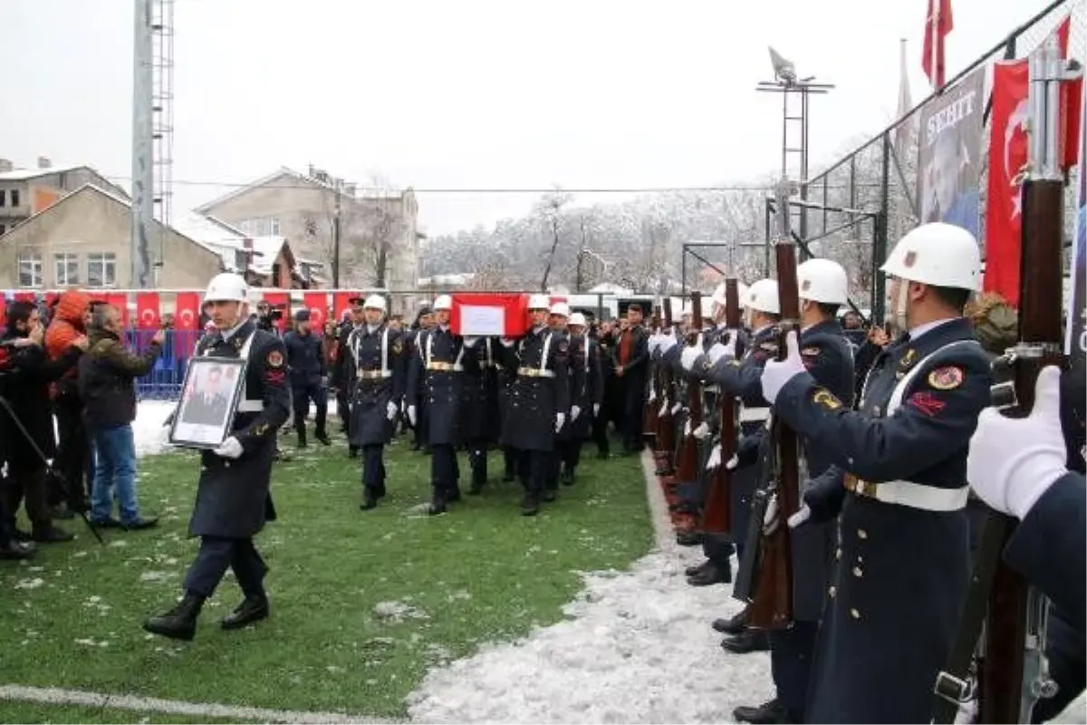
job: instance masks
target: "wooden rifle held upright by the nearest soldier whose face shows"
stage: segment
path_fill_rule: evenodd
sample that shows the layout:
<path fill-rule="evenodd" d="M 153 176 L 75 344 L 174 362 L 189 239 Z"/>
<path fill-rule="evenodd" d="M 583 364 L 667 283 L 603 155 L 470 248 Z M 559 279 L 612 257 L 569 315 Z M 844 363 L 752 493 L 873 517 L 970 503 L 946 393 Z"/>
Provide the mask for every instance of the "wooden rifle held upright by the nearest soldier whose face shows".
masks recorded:
<path fill-rule="evenodd" d="M 777 359 L 788 354 L 786 338 L 800 334 L 800 295 L 797 289 L 797 247 L 789 234 L 789 196 L 791 185 L 782 179 L 776 191 L 777 239 L 774 260 L 777 266 L 777 296 L 782 321 L 777 326 Z M 749 623 L 758 629 L 782 629 L 792 624 L 792 537 L 785 521 L 800 507 L 800 459 L 797 434 L 776 416 L 770 428 L 770 490 L 763 489 L 752 507 L 749 541 L 759 537 L 757 559 L 749 560 L 745 595 L 750 602 Z M 766 508 L 776 500 L 780 524 L 763 532 Z M 745 559 L 748 552 L 745 551 Z M 739 577 L 737 577 L 739 579 Z M 739 582 L 738 582 L 739 584 Z M 737 587 L 739 588 L 739 587 Z"/>

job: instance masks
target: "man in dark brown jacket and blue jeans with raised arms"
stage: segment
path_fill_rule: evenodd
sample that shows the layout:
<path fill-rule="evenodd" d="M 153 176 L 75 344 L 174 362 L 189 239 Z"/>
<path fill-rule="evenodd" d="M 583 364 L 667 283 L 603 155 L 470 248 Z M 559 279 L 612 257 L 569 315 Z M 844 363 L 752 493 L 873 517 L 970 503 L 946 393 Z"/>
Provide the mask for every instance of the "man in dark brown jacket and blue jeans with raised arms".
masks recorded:
<path fill-rule="evenodd" d="M 91 485 L 91 520 L 103 527 L 150 528 L 157 518 L 139 515 L 136 500 L 136 378 L 147 375 L 162 353 L 165 333 L 159 330 L 151 345 L 137 354 L 125 349 L 121 312 L 111 305 L 95 310 L 90 324 L 90 348 L 79 361 L 79 397 L 84 420 L 95 450 Z M 120 520 L 110 514 L 116 495 Z"/>

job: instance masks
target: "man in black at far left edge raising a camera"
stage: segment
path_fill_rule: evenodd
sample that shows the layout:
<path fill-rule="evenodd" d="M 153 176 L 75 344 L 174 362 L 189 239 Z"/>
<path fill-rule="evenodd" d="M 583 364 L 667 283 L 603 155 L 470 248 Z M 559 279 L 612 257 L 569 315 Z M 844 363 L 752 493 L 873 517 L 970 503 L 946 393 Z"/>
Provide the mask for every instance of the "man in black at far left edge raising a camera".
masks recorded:
<path fill-rule="evenodd" d="M 73 336 L 63 351 L 49 360 L 42 346 L 45 329 L 34 303 L 14 302 L 7 312 L 8 332 L 0 341 L 11 355 L 7 373 L 11 379 L 0 390 L 8 403 L 0 405 L 3 438 L 8 445 L 7 524 L 14 538 L 21 541 L 70 541 L 73 536 L 53 525 L 49 507 L 49 461 L 43 453 L 53 442 L 49 388 L 75 368 L 87 349 L 87 338 Z M 60 488 L 66 489 L 83 482 L 62 479 L 58 483 Z M 29 534 L 15 529 L 15 513 L 24 502 L 33 527 Z"/>

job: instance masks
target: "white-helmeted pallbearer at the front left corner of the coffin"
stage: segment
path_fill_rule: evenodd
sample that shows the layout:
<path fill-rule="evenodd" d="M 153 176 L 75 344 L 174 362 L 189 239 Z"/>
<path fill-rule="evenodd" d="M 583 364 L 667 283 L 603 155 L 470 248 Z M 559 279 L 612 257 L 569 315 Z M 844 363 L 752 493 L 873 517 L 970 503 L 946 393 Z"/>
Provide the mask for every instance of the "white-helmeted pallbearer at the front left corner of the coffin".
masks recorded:
<path fill-rule="evenodd" d="M 448 504 L 461 500 L 460 466 L 457 449 L 461 445 L 461 386 L 464 378 L 464 338 L 449 329 L 449 311 L 453 300 L 441 295 L 434 301 L 435 326 L 423 330 L 417 339 L 417 352 L 408 374 L 408 395 L 417 398 L 408 402 L 408 418 L 422 426 L 424 439 L 430 446 L 432 515 L 446 513 Z M 420 420 L 420 408 L 426 417 Z"/>

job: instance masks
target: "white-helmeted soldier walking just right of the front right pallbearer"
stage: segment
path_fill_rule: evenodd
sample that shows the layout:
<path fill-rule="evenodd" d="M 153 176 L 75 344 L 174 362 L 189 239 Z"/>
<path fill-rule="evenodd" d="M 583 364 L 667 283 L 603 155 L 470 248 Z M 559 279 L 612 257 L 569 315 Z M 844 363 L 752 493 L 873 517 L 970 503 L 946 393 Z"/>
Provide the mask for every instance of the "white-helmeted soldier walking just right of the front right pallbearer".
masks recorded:
<path fill-rule="evenodd" d="M 600 403 L 604 398 L 604 380 L 600 370 L 600 352 L 596 340 L 586 335 L 585 315 L 575 312 L 570 315 L 570 367 L 576 371 L 575 379 L 580 384 L 572 386 L 570 398 L 570 440 L 563 447 L 562 477 L 566 486 L 574 484 L 577 464 L 582 461 L 582 446 L 592 435 L 592 421 L 600 414 Z M 578 415 L 574 415 L 574 411 Z"/>

